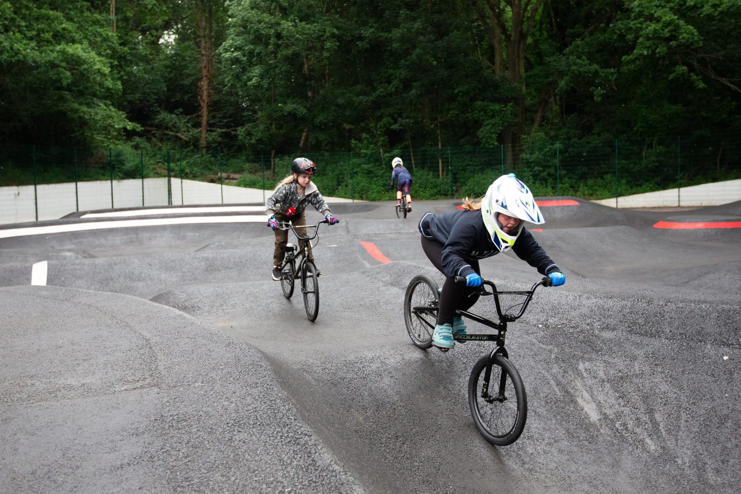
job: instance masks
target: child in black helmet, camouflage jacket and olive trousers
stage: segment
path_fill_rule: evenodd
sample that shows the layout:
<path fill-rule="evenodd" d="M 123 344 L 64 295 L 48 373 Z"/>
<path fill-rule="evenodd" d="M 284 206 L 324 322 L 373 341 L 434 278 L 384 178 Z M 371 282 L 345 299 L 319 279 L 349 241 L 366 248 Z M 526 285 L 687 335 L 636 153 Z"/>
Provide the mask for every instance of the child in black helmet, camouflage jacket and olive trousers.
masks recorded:
<path fill-rule="evenodd" d="M 268 216 L 268 227 L 276 233 L 275 250 L 273 250 L 273 279 L 280 281 L 283 278 L 281 272 L 283 259 L 285 258 L 285 246 L 288 244 L 288 230 L 279 230 L 279 224 L 290 221 L 291 224 L 306 224 L 305 209 L 311 204 L 319 213 L 322 213 L 329 224 L 337 223 L 332 216 L 327 202 L 319 193 L 319 189 L 311 181 L 316 172 L 316 165 L 307 158 L 296 158 L 290 165 L 290 174 L 283 178 L 276 186 L 270 196 L 265 199 L 265 214 Z M 296 228 L 296 233 L 306 236 L 305 228 Z M 299 250 L 304 248 L 304 242 L 299 240 Z M 314 260 L 309 245 L 309 255 Z M 321 273 L 316 272 L 316 276 Z"/>

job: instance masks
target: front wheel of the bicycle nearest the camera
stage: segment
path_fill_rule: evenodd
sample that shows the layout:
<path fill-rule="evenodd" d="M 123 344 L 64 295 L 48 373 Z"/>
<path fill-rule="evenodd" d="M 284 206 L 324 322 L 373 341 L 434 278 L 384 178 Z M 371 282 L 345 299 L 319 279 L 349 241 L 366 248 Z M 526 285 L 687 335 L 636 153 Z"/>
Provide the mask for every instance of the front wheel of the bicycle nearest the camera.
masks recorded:
<path fill-rule="evenodd" d="M 508 358 L 496 355 L 491 364 L 489 391 L 499 395 L 499 380 L 504 372 L 506 373 L 505 399 L 499 401 L 495 398 L 488 401 L 482 398 L 481 388 L 488 359 L 489 356 L 485 355 L 473 365 L 471 376 L 468 378 L 468 406 L 471 407 L 473 423 L 476 424 L 479 433 L 494 446 L 508 446 L 514 443 L 525 429 L 525 421 L 528 418 L 528 396 L 525 393 L 525 384 L 522 384 L 522 378 L 514 364 Z M 514 402 L 507 399 L 508 393 L 510 395 L 514 393 Z M 514 407 L 507 406 L 513 403 Z M 495 413 L 496 417 L 494 417 Z M 505 417 L 499 425 L 502 414 L 508 418 Z"/>

